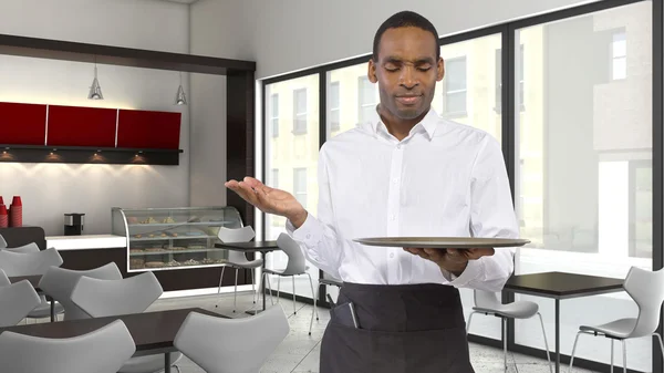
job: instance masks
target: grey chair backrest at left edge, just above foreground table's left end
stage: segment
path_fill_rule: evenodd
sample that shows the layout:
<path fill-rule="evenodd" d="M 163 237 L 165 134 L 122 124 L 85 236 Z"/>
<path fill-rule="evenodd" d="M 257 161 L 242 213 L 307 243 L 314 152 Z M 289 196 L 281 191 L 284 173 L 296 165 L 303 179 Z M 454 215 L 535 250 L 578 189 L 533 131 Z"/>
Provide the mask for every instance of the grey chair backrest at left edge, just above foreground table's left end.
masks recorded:
<path fill-rule="evenodd" d="M 28 280 L 0 287 L 0 328 L 18 324 L 40 303 L 41 299 Z"/>

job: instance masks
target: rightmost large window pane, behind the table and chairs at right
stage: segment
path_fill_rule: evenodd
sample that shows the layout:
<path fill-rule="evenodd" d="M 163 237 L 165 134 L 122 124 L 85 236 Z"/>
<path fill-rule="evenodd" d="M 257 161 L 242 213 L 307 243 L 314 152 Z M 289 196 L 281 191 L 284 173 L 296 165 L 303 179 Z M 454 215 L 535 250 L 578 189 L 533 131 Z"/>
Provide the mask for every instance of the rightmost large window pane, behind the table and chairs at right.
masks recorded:
<path fill-rule="evenodd" d="M 518 273 L 652 269 L 651 18 L 644 1 L 517 31 L 528 84 L 516 90 L 527 97 L 516 111 L 516 191 L 521 236 L 532 241 Z M 551 341 L 553 302 L 517 299 L 540 304 Z M 636 314 L 625 292 L 562 301 L 561 353 L 571 353 L 580 324 Z M 517 320 L 516 343 L 543 349 L 539 328 Z M 630 369 L 651 370 L 650 338 L 630 340 L 627 352 Z M 577 355 L 606 363 L 610 340 L 582 338 Z"/>

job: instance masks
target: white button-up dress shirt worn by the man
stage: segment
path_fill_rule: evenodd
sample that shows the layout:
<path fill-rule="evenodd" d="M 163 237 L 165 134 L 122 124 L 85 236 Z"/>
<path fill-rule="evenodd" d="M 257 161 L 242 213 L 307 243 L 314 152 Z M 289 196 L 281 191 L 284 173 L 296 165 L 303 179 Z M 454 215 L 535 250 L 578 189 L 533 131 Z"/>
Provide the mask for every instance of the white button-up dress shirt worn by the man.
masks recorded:
<path fill-rule="evenodd" d="M 398 141 L 373 123 L 329 139 L 319 156 L 318 216 L 288 234 L 307 259 L 343 281 L 444 283 L 500 291 L 515 249 L 470 260 L 457 278 L 402 248 L 354 242 L 363 237 L 517 238 L 518 225 L 498 142 L 440 118 L 432 108 Z"/>

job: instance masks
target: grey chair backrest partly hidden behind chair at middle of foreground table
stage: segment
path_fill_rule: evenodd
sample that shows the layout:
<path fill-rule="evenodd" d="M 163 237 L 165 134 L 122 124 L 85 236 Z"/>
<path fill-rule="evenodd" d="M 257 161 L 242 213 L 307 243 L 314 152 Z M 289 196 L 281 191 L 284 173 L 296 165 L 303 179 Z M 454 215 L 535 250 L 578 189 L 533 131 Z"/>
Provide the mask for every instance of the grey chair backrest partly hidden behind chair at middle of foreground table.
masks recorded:
<path fill-rule="evenodd" d="M 90 315 L 72 302 L 72 291 L 81 277 L 117 280 L 122 273 L 115 262 L 85 271 L 52 267 L 42 276 L 39 287 L 64 308 L 64 320 L 87 319 Z"/>

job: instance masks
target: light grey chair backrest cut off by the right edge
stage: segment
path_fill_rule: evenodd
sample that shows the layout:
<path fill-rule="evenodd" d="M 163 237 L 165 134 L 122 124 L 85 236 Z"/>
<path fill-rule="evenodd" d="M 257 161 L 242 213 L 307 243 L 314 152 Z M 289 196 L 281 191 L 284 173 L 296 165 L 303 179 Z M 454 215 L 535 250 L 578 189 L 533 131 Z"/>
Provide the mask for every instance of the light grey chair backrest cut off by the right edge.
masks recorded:
<path fill-rule="evenodd" d="M 632 267 L 623 288 L 639 305 L 639 318 L 631 338 L 651 335 L 660 323 L 660 310 L 664 302 L 664 269 L 649 271 Z"/>

